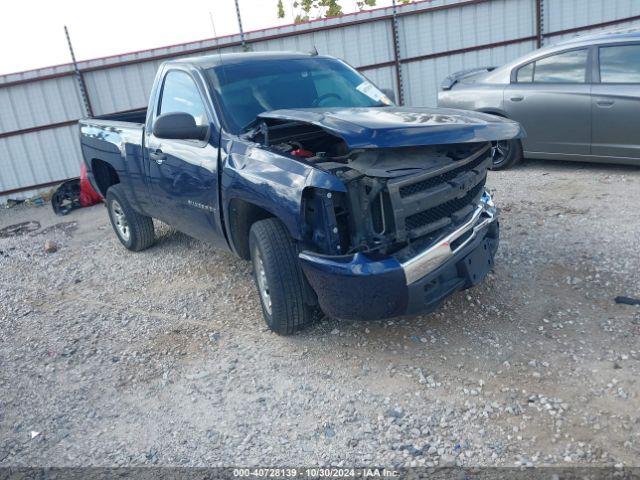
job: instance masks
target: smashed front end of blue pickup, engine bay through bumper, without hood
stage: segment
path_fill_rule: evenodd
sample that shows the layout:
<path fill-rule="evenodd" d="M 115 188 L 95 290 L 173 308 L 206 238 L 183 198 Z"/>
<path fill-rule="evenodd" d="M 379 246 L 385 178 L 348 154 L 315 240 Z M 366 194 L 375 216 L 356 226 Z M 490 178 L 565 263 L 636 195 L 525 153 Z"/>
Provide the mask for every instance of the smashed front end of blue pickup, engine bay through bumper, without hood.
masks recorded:
<path fill-rule="evenodd" d="M 492 267 L 498 222 L 485 191 L 491 141 L 482 135 L 353 148 L 324 125 L 277 118 L 263 121 L 254 139 L 345 187 L 309 186 L 302 201 L 300 259 L 325 313 L 378 319 L 428 311 Z"/>

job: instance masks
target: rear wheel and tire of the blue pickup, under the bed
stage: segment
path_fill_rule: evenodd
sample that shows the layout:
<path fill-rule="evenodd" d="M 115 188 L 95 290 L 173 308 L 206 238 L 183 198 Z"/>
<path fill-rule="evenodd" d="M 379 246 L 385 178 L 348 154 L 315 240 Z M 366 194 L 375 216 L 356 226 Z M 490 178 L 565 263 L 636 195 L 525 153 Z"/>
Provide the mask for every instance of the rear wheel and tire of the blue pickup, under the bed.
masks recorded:
<path fill-rule="evenodd" d="M 118 240 L 127 249 L 139 252 L 155 242 L 153 219 L 136 212 L 124 195 L 122 185 L 109 187 L 106 197 L 109 220 Z"/>

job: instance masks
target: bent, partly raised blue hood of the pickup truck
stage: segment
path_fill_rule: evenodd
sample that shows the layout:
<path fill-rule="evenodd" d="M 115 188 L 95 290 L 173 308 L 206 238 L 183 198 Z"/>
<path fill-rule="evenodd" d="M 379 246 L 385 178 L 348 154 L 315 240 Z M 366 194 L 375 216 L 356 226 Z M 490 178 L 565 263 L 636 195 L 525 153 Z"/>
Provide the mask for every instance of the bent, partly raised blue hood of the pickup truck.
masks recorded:
<path fill-rule="evenodd" d="M 518 122 L 447 108 L 372 107 L 273 110 L 270 123 L 303 122 L 342 138 L 354 148 L 416 147 L 489 142 L 525 136 Z"/>

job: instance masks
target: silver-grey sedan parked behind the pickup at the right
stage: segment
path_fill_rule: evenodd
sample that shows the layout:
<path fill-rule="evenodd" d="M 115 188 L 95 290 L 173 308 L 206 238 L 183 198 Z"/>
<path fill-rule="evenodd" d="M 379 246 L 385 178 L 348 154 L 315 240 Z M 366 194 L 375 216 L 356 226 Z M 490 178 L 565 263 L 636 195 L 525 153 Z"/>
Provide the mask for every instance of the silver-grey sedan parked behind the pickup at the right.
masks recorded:
<path fill-rule="evenodd" d="M 520 122 L 494 145 L 494 169 L 523 156 L 640 165 L 640 32 L 577 37 L 499 68 L 445 79 L 438 106 Z"/>

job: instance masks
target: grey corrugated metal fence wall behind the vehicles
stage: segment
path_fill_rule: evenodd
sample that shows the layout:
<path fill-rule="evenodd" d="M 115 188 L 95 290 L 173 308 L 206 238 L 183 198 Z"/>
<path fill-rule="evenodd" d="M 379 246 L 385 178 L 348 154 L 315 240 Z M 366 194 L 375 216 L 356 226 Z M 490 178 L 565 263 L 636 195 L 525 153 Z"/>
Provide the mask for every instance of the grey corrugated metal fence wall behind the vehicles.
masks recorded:
<path fill-rule="evenodd" d="M 541 15 L 538 16 L 537 12 Z M 396 72 L 391 8 L 246 35 L 252 50 L 310 51 L 345 59 L 407 105 L 435 105 L 452 72 L 500 65 L 537 47 L 612 26 L 640 27 L 639 0 L 433 0 L 398 8 Z M 158 65 L 182 55 L 241 51 L 239 35 L 80 62 L 95 115 L 146 106 Z M 398 73 L 400 75 L 398 75 Z M 75 122 L 85 116 L 70 65 L 0 77 L 0 201 L 76 176 Z"/>

